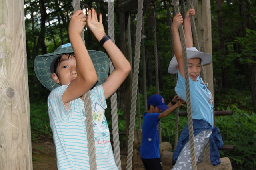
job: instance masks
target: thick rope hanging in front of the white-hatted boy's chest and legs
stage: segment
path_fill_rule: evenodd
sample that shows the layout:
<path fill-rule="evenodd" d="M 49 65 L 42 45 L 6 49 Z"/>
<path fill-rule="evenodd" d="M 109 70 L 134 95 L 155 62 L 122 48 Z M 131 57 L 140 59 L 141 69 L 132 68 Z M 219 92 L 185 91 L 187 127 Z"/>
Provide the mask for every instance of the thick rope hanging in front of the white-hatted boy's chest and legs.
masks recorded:
<path fill-rule="evenodd" d="M 174 6 L 175 13 L 179 13 L 179 2 L 178 0 L 172 0 L 172 5 Z M 188 75 L 188 56 L 186 49 L 186 40 L 184 35 L 184 30 L 182 24 L 179 27 L 180 39 L 182 43 L 182 52 L 184 57 L 184 68 L 185 68 L 185 84 L 186 84 L 186 100 L 187 100 L 187 113 L 188 113 L 188 130 L 189 130 L 189 142 L 190 142 L 190 152 L 192 158 L 192 168 L 196 170 L 196 156 L 194 148 L 194 130 L 192 122 L 192 108 L 191 108 L 191 99 L 190 99 L 190 84 L 189 84 L 189 75 Z"/>

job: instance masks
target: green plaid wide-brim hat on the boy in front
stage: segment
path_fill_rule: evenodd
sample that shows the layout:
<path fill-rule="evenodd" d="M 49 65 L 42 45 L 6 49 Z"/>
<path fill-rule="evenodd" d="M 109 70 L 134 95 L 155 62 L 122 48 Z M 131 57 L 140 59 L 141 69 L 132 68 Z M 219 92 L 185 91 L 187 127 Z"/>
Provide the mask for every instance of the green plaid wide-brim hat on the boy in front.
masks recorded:
<path fill-rule="evenodd" d="M 36 73 L 36 77 L 50 91 L 59 87 L 59 84 L 54 82 L 52 79 L 52 70 L 54 63 L 58 57 L 62 56 L 63 54 L 70 54 L 74 53 L 74 50 L 71 46 L 71 43 L 60 45 L 53 53 L 48 53 L 44 55 L 36 56 L 34 60 L 34 71 Z M 93 51 L 88 50 L 88 53 L 92 59 L 94 67 L 96 69 L 96 73 L 98 76 L 98 81 L 94 86 L 100 85 L 106 81 L 108 78 L 109 72 L 109 58 L 106 53 L 101 51 Z"/>

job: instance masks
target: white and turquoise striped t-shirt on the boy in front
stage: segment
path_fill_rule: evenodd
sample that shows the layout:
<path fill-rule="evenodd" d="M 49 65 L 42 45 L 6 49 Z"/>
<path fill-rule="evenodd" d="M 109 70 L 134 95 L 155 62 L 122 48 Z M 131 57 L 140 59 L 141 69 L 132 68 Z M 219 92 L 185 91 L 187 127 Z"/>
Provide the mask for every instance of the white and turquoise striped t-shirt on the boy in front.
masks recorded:
<path fill-rule="evenodd" d="M 57 87 L 48 97 L 48 114 L 56 147 L 58 170 L 90 169 L 84 101 L 80 98 L 70 101 L 67 110 L 62 102 L 62 95 L 67 87 L 68 85 Z M 102 85 L 94 87 L 90 97 L 92 111 L 95 109 L 95 103 L 104 109 L 107 108 Z M 118 170 L 105 116 L 101 127 L 94 123 L 94 139 L 97 169 Z"/>

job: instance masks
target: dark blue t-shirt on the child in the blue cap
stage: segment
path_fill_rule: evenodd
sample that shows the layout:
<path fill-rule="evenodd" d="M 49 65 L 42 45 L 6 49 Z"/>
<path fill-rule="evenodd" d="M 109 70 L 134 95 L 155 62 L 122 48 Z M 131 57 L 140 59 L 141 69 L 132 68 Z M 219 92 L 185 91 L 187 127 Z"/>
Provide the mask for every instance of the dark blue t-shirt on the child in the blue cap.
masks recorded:
<path fill-rule="evenodd" d="M 144 113 L 140 156 L 144 159 L 160 158 L 158 119 L 160 113 Z"/>

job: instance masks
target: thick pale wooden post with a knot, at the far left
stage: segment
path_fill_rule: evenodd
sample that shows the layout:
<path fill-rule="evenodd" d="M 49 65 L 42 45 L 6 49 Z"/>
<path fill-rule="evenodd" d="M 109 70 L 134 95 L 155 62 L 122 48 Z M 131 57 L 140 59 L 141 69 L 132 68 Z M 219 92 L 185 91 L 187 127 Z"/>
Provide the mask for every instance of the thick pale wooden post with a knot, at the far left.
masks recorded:
<path fill-rule="evenodd" d="M 0 1 L 0 170 L 32 170 L 23 0 Z"/>

